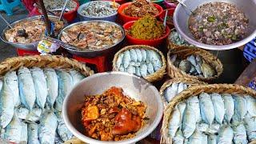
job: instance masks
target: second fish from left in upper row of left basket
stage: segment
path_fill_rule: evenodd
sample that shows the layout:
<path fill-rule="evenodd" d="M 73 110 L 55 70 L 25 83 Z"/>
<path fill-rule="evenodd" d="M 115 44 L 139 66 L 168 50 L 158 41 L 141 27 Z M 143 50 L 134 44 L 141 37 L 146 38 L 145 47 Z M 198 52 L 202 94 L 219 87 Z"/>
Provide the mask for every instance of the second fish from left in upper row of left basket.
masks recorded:
<path fill-rule="evenodd" d="M 18 85 L 21 102 L 26 108 L 32 110 L 36 100 L 36 92 L 34 82 L 30 70 L 26 67 L 21 67 L 18 70 Z"/>

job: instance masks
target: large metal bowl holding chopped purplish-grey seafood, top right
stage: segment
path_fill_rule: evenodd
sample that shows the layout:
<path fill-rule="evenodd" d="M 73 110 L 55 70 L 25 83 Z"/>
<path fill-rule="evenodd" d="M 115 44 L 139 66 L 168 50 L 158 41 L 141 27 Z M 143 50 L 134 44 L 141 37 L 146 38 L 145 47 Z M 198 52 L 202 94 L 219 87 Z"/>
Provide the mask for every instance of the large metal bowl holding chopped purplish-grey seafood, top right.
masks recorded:
<path fill-rule="evenodd" d="M 190 10 L 195 10 L 197 6 L 201 6 L 202 4 L 208 2 L 228 2 L 237 6 L 238 9 L 242 10 L 242 12 L 246 14 L 246 17 L 249 18 L 249 30 L 246 38 L 239 42 L 234 42 L 230 45 L 207 45 L 194 39 L 194 36 L 190 33 L 188 28 L 188 18 L 190 16 L 190 12 L 184 6 L 178 4 L 174 11 L 174 26 L 178 33 L 182 35 L 182 38 L 185 38 L 187 42 L 190 42 L 194 46 L 198 46 L 207 50 L 229 50 L 245 45 L 247 42 L 250 42 L 253 38 L 256 37 L 256 0 L 184 0 L 183 2 L 190 8 Z"/>

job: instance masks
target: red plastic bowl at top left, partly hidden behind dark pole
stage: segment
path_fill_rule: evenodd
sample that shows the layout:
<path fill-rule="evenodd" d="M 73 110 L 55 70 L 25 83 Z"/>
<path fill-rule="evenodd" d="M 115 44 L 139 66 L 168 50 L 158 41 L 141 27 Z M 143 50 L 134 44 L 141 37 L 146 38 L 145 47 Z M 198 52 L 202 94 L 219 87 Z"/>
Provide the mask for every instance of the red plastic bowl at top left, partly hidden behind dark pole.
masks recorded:
<path fill-rule="evenodd" d="M 63 14 L 63 18 L 65 18 L 67 22 L 72 22 L 77 17 L 79 2 L 77 0 L 73 1 L 77 3 L 77 7 L 75 7 L 74 10 L 70 10 L 69 12 Z M 37 7 L 34 7 L 34 9 L 30 12 L 29 17 L 34 15 L 41 15 Z"/>

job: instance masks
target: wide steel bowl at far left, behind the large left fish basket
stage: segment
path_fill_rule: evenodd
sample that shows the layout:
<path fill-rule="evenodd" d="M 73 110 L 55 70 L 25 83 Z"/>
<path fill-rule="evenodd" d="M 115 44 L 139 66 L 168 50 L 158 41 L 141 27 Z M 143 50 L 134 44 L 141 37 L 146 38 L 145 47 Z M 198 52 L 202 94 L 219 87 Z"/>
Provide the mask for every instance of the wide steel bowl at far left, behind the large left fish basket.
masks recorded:
<path fill-rule="evenodd" d="M 58 18 L 58 17 L 53 16 L 53 15 L 48 15 L 48 16 L 49 16 L 49 18 Z M 15 24 L 17 24 L 18 22 L 22 22 L 22 21 L 25 21 L 25 20 L 30 21 L 30 20 L 38 19 L 39 17 L 41 17 L 41 15 L 30 17 L 30 18 L 23 18 L 23 19 L 20 19 L 16 22 L 11 23 L 10 25 L 15 26 Z M 64 22 L 64 27 L 65 27 L 67 22 L 66 22 L 66 20 L 63 20 L 63 22 Z M 31 42 L 31 43 L 8 42 L 6 40 L 5 33 L 6 33 L 6 30 L 9 30 L 9 29 L 10 29 L 10 27 L 6 26 L 6 28 L 4 30 L 2 30 L 1 39 L 2 39 L 3 42 L 6 42 L 6 43 L 10 44 L 11 46 L 14 46 L 16 48 L 20 48 L 20 49 L 23 49 L 23 50 L 37 50 L 38 42 Z"/>

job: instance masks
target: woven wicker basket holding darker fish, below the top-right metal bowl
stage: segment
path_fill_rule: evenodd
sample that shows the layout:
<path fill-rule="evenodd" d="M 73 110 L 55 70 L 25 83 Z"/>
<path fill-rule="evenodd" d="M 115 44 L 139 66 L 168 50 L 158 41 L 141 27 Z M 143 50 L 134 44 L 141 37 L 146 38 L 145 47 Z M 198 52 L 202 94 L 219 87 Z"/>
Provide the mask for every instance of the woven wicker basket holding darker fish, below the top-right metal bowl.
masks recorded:
<path fill-rule="evenodd" d="M 179 70 L 172 62 L 170 62 L 170 56 L 173 54 L 177 54 L 179 58 L 186 58 L 187 56 L 191 54 L 200 55 L 202 58 L 208 62 L 211 66 L 213 66 L 214 70 L 216 70 L 217 74 L 214 75 L 214 77 L 210 78 L 204 78 L 204 77 L 198 77 L 190 74 L 186 74 L 186 72 Z M 212 80 L 218 78 L 223 71 L 222 62 L 215 57 L 213 54 L 206 50 L 202 50 L 199 48 L 191 48 L 190 46 L 180 46 L 175 49 L 169 50 L 167 54 L 167 74 L 170 76 L 170 78 L 193 78 L 198 79 L 203 82 L 211 82 Z"/>

